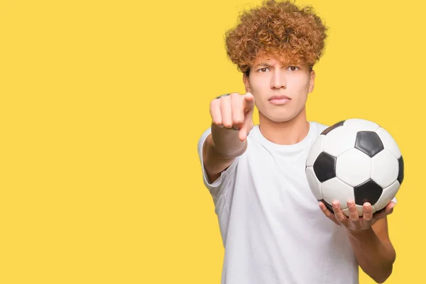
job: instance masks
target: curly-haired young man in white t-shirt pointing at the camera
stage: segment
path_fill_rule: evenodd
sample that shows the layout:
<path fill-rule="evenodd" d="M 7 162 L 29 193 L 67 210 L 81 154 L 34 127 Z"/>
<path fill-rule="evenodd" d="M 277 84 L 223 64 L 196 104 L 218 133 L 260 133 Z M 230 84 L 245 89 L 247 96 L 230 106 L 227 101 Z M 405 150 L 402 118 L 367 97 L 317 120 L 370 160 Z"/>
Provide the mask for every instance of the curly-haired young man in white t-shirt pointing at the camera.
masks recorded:
<path fill-rule="evenodd" d="M 198 152 L 225 248 L 222 284 L 377 283 L 391 275 L 395 250 L 386 215 L 364 204 L 359 218 L 338 202 L 318 203 L 305 176 L 307 153 L 327 128 L 307 121 L 305 103 L 327 28 L 310 8 L 263 3 L 226 34 L 246 94 L 212 99 L 212 125 Z M 253 126 L 253 106 L 259 124 Z"/>

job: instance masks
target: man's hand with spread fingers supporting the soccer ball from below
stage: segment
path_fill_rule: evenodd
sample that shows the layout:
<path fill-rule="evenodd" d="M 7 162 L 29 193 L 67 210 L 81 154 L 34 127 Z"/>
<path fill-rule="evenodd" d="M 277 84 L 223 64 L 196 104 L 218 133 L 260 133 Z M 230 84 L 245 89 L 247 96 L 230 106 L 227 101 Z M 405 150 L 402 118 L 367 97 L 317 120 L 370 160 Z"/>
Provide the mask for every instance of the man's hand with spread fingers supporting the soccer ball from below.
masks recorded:
<path fill-rule="evenodd" d="M 379 219 L 382 219 L 388 214 L 391 214 L 393 212 L 393 207 L 395 206 L 395 202 L 389 202 L 389 204 L 384 209 L 373 214 L 371 204 L 366 202 L 363 205 L 364 214 L 362 217 L 359 217 L 354 200 L 349 200 L 347 202 L 349 208 L 349 217 L 346 217 L 346 215 L 343 214 L 338 201 L 332 202 L 334 214 L 329 211 L 327 207 L 325 207 L 324 203 L 320 202 L 319 204 L 325 216 L 327 216 L 337 225 L 344 226 L 346 230 L 351 232 L 363 231 L 370 228 Z"/>

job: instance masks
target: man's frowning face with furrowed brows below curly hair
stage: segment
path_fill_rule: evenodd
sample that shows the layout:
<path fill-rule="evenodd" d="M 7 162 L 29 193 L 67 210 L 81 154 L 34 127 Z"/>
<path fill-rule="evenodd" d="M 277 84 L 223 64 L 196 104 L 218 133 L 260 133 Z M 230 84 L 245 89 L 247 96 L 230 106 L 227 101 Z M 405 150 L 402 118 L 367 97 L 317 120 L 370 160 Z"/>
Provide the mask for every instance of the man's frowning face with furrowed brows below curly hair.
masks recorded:
<path fill-rule="evenodd" d="M 285 62 L 285 58 L 260 57 L 244 75 L 246 92 L 251 92 L 261 116 L 275 122 L 294 119 L 305 111 L 307 94 L 314 88 L 315 72 L 306 65 Z"/>

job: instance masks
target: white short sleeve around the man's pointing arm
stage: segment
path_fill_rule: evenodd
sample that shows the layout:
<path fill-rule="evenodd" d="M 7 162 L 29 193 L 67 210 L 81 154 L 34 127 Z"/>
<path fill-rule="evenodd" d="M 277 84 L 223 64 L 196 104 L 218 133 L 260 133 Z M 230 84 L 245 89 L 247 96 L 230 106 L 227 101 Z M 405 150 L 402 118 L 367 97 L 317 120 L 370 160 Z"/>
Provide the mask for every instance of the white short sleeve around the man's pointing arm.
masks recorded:
<path fill-rule="evenodd" d="M 226 189 L 226 187 L 229 186 L 230 180 L 234 178 L 235 171 L 236 171 L 236 165 L 238 164 L 239 157 L 235 158 L 235 160 L 229 165 L 226 170 L 222 171 L 221 175 L 217 180 L 209 180 L 209 177 L 207 175 L 207 172 L 204 168 L 204 161 L 202 158 L 202 147 L 204 146 L 204 141 L 207 139 L 209 134 L 212 133 L 212 130 L 209 128 L 204 133 L 202 133 L 202 136 L 200 137 L 200 140 L 198 141 L 198 155 L 200 157 L 200 163 L 202 168 L 202 179 L 204 182 L 205 187 L 209 190 L 212 197 L 218 198 L 219 195 Z"/>

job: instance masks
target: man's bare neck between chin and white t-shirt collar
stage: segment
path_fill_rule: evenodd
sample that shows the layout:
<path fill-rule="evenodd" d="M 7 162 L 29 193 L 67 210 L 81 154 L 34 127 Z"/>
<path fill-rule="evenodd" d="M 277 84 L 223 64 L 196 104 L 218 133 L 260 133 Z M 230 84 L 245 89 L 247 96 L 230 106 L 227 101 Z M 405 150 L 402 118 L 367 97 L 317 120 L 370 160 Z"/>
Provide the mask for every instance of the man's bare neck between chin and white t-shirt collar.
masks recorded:
<path fill-rule="evenodd" d="M 306 119 L 305 109 L 295 118 L 275 122 L 259 113 L 259 130 L 269 141 L 279 145 L 293 145 L 302 141 L 309 132 L 310 124 Z"/>

